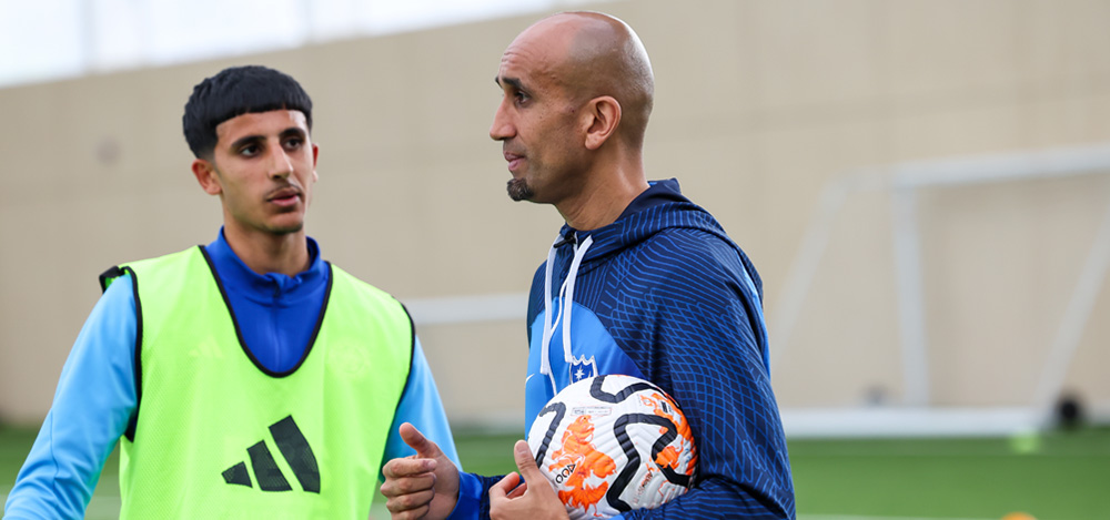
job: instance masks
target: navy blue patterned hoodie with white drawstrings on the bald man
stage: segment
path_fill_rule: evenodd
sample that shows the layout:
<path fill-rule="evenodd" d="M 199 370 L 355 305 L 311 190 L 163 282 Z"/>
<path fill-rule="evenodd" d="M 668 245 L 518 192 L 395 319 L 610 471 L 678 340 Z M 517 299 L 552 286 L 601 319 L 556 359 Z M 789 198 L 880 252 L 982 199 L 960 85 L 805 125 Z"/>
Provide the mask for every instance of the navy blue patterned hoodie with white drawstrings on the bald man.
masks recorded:
<path fill-rule="evenodd" d="M 655 383 L 690 424 L 695 488 L 620 518 L 794 518 L 759 276 L 677 181 L 653 183 L 607 226 L 564 225 L 533 279 L 527 320 L 525 431 L 558 390 L 603 374 Z"/>

